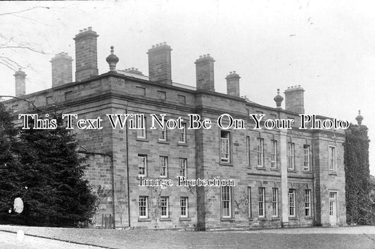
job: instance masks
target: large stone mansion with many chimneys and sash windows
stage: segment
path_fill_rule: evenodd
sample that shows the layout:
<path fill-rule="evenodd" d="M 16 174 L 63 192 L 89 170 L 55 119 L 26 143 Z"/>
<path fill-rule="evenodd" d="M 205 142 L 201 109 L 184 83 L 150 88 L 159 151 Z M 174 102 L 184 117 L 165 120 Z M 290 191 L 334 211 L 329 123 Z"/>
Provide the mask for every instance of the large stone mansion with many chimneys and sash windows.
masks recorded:
<path fill-rule="evenodd" d="M 30 111 L 26 99 L 39 109 L 57 107 L 79 119 L 103 119 L 101 129 L 72 130 L 79 152 L 87 157 L 85 177 L 100 198 L 97 226 L 108 215 L 113 227 L 145 229 L 346 224 L 345 133 L 299 128 L 298 115 L 305 113 L 302 87 L 285 90 L 285 109 L 279 92 L 275 107 L 241 97 L 236 72 L 227 75 L 227 94 L 217 93 L 210 55 L 195 62 L 196 88 L 174 83 L 167 43 L 148 50 L 148 76 L 134 68 L 116 69 L 113 48 L 106 58 L 110 71 L 98 74 L 97 37 L 91 27 L 75 36 L 75 81 L 72 58 L 58 53 L 51 60 L 52 88 L 25 95 L 26 74 L 20 70 L 15 73 L 16 97 L 3 102 L 15 114 Z M 112 128 L 107 114 L 144 114 L 140 123 L 145 127 Z M 174 129 L 151 129 L 151 114 L 165 114 L 166 123 L 183 121 Z M 189 129 L 188 114 L 210 119 L 211 127 Z M 244 128 L 220 128 L 216 120 L 222 114 L 242 120 Z M 263 127 L 266 119 L 295 122 L 288 129 L 255 129 L 251 114 L 265 115 Z M 229 126 L 229 119 L 223 120 Z M 177 186 L 177 176 L 234 180 L 234 186 Z M 174 184 L 139 186 L 140 179 Z"/>

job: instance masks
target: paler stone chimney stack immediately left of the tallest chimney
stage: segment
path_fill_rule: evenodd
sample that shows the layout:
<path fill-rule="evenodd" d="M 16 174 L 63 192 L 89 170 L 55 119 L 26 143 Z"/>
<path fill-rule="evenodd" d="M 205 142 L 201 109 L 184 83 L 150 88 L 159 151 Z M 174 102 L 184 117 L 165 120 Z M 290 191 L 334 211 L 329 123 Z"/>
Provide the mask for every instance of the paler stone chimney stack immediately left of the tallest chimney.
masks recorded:
<path fill-rule="evenodd" d="M 58 53 L 51 60 L 52 87 L 60 86 L 73 81 L 72 58 L 68 53 Z"/>

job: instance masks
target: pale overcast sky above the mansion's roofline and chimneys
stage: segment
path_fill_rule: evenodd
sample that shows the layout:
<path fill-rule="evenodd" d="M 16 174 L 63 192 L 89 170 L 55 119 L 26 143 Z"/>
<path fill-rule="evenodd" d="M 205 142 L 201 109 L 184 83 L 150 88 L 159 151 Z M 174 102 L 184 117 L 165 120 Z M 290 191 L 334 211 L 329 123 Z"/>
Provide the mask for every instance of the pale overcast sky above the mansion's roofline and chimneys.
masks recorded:
<path fill-rule="evenodd" d="M 30 11 L 13 15 L 1 13 Z M 98 33 L 99 74 L 108 72 L 110 46 L 117 69 L 148 75 L 146 52 L 166 41 L 172 80 L 196 86 L 199 55 L 215 62 L 215 90 L 225 76 L 241 76 L 241 95 L 275 107 L 277 88 L 305 88 L 305 112 L 355 122 L 360 109 L 375 141 L 375 15 L 373 1 L 63 1 L 0 2 L 0 42 L 29 43 L 31 51 L 0 50 L 24 67 L 27 93 L 51 87 L 51 58 L 73 59 L 72 38 L 80 29 Z M 75 62 L 73 62 L 73 72 Z M 11 69 L 0 65 L 0 95 L 14 95 Z M 74 76 L 74 73 L 73 73 Z M 375 175 L 374 144 L 370 170 Z"/>

